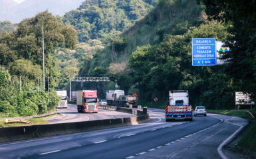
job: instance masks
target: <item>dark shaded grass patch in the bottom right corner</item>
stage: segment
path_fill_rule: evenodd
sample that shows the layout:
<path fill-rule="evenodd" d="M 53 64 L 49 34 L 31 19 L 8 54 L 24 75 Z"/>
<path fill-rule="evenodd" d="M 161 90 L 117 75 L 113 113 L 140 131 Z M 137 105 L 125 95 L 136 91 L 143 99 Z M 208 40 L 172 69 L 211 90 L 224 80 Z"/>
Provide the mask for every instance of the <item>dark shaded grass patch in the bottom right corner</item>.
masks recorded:
<path fill-rule="evenodd" d="M 253 125 L 249 131 L 245 132 L 243 137 L 239 140 L 239 146 L 253 150 L 256 152 L 256 124 Z"/>

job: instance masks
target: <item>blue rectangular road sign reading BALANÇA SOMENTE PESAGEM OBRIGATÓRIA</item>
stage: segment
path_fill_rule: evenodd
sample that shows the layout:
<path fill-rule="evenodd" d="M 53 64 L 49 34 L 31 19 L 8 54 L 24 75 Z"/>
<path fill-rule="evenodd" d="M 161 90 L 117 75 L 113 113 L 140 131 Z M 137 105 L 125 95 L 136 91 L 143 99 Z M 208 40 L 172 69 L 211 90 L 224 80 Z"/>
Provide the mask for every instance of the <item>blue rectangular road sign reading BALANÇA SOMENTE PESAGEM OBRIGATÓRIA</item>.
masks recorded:
<path fill-rule="evenodd" d="M 215 38 L 192 38 L 192 66 L 216 64 Z"/>

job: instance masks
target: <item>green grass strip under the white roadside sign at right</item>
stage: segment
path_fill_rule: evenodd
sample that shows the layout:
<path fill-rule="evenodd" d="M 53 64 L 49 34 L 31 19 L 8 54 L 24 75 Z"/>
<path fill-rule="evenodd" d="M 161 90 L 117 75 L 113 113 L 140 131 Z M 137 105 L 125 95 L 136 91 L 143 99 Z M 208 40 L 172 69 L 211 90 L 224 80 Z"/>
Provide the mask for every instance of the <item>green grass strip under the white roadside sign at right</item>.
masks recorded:
<path fill-rule="evenodd" d="M 207 109 L 207 113 L 215 113 L 215 114 L 222 114 L 222 115 L 231 115 L 235 117 L 242 117 L 247 119 L 253 119 L 251 115 L 248 115 L 245 113 L 245 111 L 251 111 L 249 109 L 243 109 L 243 110 L 234 110 L 234 109 L 220 109 L 220 110 L 214 110 L 214 109 Z M 253 113 L 255 109 L 251 111 Z"/>

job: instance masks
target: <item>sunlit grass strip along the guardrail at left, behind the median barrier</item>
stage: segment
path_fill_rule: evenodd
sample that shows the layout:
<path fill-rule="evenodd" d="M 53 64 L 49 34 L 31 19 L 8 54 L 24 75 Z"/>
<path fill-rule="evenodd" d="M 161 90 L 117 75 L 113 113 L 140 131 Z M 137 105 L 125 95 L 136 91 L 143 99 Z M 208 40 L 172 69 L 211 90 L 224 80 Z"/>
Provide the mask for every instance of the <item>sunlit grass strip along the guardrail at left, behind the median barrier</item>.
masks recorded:
<path fill-rule="evenodd" d="M 49 115 L 46 117 L 53 117 L 54 115 Z M 49 121 L 45 120 L 46 117 L 38 117 L 38 118 L 31 118 L 26 119 L 27 121 L 30 121 L 32 125 L 42 125 L 42 124 L 48 124 Z M 7 123 L 5 124 L 5 121 L 0 121 L 0 127 L 19 127 L 19 126 L 29 126 L 30 124 L 27 123 Z"/>

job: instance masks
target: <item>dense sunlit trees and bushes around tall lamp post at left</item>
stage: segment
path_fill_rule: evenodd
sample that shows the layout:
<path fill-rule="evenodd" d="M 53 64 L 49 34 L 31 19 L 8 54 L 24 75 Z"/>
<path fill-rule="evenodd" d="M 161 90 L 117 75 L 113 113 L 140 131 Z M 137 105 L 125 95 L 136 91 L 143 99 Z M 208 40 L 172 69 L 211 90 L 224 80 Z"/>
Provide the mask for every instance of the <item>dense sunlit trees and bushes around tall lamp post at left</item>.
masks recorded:
<path fill-rule="evenodd" d="M 37 92 L 37 79 L 42 89 L 43 56 L 42 26 L 45 28 L 45 76 L 49 77 L 49 91 Z M 35 115 L 55 107 L 59 99 L 53 88 L 59 82 L 55 58 L 56 48 L 74 48 L 76 31 L 60 23 L 47 11 L 25 19 L 17 30 L 0 34 L 0 112 L 4 116 Z M 8 73 L 9 72 L 9 73 Z M 19 77 L 22 87 L 19 89 Z M 47 83 L 47 82 L 46 82 Z M 48 86 L 48 85 L 47 85 Z M 46 86 L 46 88 L 47 88 Z"/>

